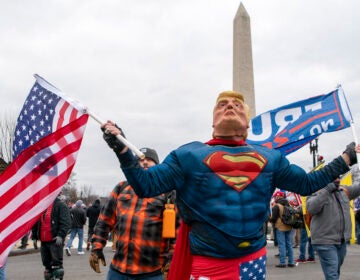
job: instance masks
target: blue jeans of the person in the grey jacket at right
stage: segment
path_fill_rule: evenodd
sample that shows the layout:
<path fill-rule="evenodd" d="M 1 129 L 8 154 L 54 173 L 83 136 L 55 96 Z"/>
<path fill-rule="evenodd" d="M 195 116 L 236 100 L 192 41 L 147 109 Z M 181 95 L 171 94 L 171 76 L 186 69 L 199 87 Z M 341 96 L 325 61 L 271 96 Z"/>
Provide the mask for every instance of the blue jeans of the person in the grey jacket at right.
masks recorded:
<path fill-rule="evenodd" d="M 346 243 L 340 245 L 314 245 L 326 280 L 338 280 L 340 267 L 346 256 Z"/>

